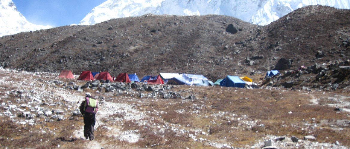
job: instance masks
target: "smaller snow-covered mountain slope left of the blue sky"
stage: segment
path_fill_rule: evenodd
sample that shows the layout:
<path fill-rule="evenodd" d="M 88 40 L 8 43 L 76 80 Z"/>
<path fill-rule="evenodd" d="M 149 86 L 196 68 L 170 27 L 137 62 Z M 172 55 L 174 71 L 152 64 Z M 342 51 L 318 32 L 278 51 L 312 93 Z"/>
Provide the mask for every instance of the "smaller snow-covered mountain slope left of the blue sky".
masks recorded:
<path fill-rule="evenodd" d="M 26 20 L 18 12 L 12 0 L 0 0 L 0 37 L 23 31 L 34 31 L 52 28 L 51 26 L 35 25 Z"/>

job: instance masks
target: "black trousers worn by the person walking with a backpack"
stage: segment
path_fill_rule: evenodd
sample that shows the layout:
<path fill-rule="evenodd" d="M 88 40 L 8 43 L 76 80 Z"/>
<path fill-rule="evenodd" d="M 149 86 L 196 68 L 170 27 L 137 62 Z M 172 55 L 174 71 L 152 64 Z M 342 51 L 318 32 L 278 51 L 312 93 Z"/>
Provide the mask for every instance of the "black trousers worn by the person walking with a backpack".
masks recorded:
<path fill-rule="evenodd" d="M 95 130 L 96 118 L 95 114 L 85 113 L 84 115 L 84 136 L 90 140 L 94 139 L 93 131 Z"/>

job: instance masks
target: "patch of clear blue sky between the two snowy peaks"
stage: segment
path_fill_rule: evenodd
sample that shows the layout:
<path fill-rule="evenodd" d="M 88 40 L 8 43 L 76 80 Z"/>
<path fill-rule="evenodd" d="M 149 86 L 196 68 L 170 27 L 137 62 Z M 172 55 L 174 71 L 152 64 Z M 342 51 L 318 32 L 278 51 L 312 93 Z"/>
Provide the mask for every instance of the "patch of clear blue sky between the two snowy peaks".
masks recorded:
<path fill-rule="evenodd" d="M 52 27 L 79 24 L 96 6 L 106 0 L 12 0 L 26 19 Z"/>

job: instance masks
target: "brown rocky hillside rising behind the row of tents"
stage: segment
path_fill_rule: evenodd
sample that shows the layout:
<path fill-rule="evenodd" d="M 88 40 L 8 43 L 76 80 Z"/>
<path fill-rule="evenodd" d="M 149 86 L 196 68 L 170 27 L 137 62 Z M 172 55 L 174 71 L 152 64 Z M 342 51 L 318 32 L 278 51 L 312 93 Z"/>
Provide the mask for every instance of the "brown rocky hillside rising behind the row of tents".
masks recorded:
<path fill-rule="evenodd" d="M 213 81 L 252 74 L 257 82 L 281 58 L 289 63 L 276 68 L 281 72 L 349 59 L 349 16 L 350 10 L 308 6 L 258 26 L 228 16 L 148 14 L 4 36 L 0 61 L 27 71 L 191 73 Z"/>

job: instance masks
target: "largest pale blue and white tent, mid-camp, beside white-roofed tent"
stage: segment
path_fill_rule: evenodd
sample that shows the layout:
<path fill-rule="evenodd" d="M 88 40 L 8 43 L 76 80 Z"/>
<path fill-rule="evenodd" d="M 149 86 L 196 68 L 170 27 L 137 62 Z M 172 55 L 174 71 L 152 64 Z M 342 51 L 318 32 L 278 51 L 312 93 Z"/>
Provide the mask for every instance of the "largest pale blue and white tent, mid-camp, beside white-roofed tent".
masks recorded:
<path fill-rule="evenodd" d="M 208 86 L 208 79 L 203 75 L 180 74 L 169 79 L 167 84 Z"/>

